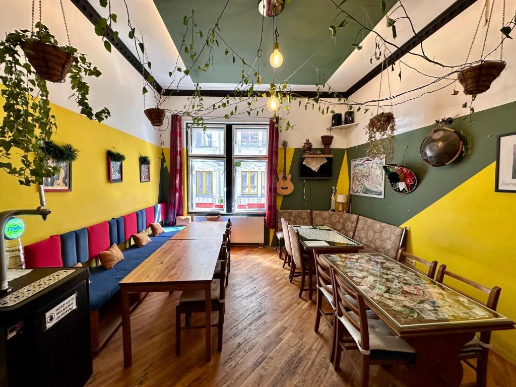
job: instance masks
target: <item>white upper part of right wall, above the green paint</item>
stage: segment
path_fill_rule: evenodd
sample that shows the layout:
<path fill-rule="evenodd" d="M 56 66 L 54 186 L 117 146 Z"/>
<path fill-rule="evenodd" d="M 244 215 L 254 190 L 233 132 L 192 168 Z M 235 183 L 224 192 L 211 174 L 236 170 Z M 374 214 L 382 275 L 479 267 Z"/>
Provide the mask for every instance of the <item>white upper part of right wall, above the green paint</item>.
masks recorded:
<path fill-rule="evenodd" d="M 426 3 L 426 2 L 425 2 Z M 483 1 L 478 1 L 471 7 L 463 11 L 457 18 L 446 24 L 443 28 L 433 34 L 430 38 L 424 41 L 424 49 L 426 54 L 445 64 L 460 64 L 463 63 L 467 51 L 469 50 L 473 33 L 480 17 L 482 6 L 485 4 Z M 510 20 L 514 15 L 516 9 L 516 0 L 507 0 L 506 2 L 506 22 Z M 409 13 L 410 14 L 410 13 Z M 398 23 L 403 23 L 404 20 L 400 20 Z M 383 28 L 385 21 L 379 23 L 379 30 Z M 491 21 L 491 28 L 489 30 L 489 36 L 486 45 L 486 53 L 494 49 L 499 43 L 501 33 L 499 29 L 502 25 L 502 2 L 496 2 L 493 9 L 493 17 Z M 472 50 L 471 60 L 479 59 L 481 44 L 485 36 L 485 27 L 481 25 L 475 45 Z M 385 31 L 385 37 L 392 39 L 390 31 Z M 374 40 L 368 39 L 364 42 L 364 50 L 371 50 L 374 48 Z M 420 53 L 419 47 L 414 49 L 413 52 Z M 356 52 L 350 56 L 343 65 L 346 69 L 346 65 L 355 67 L 360 53 Z M 499 52 L 495 52 L 492 59 L 499 58 Z M 410 66 L 417 68 L 427 74 L 434 76 L 442 76 L 448 73 L 447 70 L 431 65 L 429 62 L 423 59 L 414 57 L 412 55 L 405 55 L 402 58 L 403 61 L 407 62 Z M 494 81 L 491 88 L 482 94 L 479 94 L 473 103 L 475 111 L 489 109 L 494 106 L 502 105 L 516 100 L 516 39 L 507 39 L 504 44 L 504 60 L 507 62 L 507 67 L 502 72 L 502 75 Z M 373 65 L 369 64 L 369 57 L 364 55 L 362 60 L 362 66 L 370 71 L 378 62 L 373 61 Z M 416 73 L 413 70 L 401 65 L 402 80 L 400 82 L 397 74 L 398 67 L 394 72 L 390 72 L 391 81 L 391 92 L 392 95 L 411 90 L 419 85 L 423 85 L 429 82 L 428 77 Z M 446 81 L 441 81 L 436 86 L 429 88 L 428 90 L 437 89 L 440 86 L 444 86 Z M 378 98 L 378 90 L 380 85 L 380 76 L 375 77 L 371 82 L 362 87 L 359 91 L 350 96 L 350 100 L 353 101 L 368 101 Z M 382 98 L 389 96 L 388 87 L 386 83 L 386 71 L 383 73 L 382 80 Z M 422 126 L 432 124 L 436 119 L 442 117 L 454 117 L 457 115 L 465 115 L 469 113 L 469 109 L 462 108 L 464 102 L 471 101 L 471 97 L 465 95 L 462 90 L 462 86 L 459 82 L 456 83 L 455 88 L 459 91 L 458 95 L 451 95 L 454 86 L 451 85 L 441 91 L 437 91 L 431 94 L 422 96 L 422 98 L 406 102 L 402 105 L 394 106 L 393 112 L 396 117 L 397 132 L 402 133 L 417 129 Z M 426 91 L 412 92 L 400 99 L 393 101 L 401 101 L 402 99 L 414 98 L 420 93 Z M 389 109 L 390 108 L 386 108 Z M 363 109 L 362 109 L 363 110 Z M 367 123 L 370 116 L 376 114 L 376 107 L 370 108 L 366 115 L 362 112 L 357 114 L 357 121 L 361 121 L 364 124 Z M 489 134 L 489 128 L 486 128 L 486 135 Z M 366 142 L 366 136 L 364 133 L 363 125 L 358 125 L 356 128 L 350 130 L 346 136 L 345 142 L 347 147 L 356 146 Z"/>

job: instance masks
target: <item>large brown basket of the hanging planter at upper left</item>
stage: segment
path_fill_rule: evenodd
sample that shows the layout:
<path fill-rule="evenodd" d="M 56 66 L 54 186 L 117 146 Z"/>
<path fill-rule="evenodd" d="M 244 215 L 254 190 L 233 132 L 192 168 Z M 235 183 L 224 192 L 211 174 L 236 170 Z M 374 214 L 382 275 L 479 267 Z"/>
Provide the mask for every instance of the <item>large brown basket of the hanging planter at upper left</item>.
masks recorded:
<path fill-rule="evenodd" d="M 70 71 L 73 55 L 53 44 L 37 41 L 22 43 L 22 50 L 40 78 L 63 82 Z"/>

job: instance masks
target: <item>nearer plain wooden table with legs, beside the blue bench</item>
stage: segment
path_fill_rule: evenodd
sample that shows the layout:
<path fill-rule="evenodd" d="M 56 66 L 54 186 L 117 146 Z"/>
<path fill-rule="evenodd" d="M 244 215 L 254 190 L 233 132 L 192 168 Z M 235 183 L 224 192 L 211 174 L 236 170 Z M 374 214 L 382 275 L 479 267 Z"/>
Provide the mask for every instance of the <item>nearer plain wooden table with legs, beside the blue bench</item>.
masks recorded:
<path fill-rule="evenodd" d="M 193 224 L 193 223 L 192 223 Z M 224 225 L 225 230 L 225 223 Z M 184 230 L 189 228 L 187 226 Z M 212 359 L 211 284 L 222 244 L 216 239 L 167 240 L 120 281 L 124 365 L 132 364 L 130 293 L 204 290 L 206 361 Z"/>

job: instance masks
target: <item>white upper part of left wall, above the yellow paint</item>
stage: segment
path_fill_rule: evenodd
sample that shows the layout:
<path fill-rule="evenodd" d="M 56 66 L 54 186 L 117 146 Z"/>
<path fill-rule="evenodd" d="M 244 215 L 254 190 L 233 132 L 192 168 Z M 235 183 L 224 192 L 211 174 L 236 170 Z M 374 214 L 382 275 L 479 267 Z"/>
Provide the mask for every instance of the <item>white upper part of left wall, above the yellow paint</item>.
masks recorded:
<path fill-rule="evenodd" d="M 30 0 L 0 0 L 0 35 L 4 37 L 13 29 L 30 29 L 31 7 Z M 104 121 L 105 124 L 158 145 L 159 135 L 143 114 L 141 75 L 116 49 L 113 48 L 111 54 L 104 49 L 100 37 L 94 34 L 93 25 L 71 2 L 64 1 L 63 7 L 72 45 L 79 52 L 86 54 L 93 65 L 102 72 L 99 78 L 87 77 L 90 85 L 88 99 L 93 109 L 99 110 L 106 106 L 111 111 L 111 117 Z M 57 40 L 63 45 L 67 44 L 58 0 L 43 1 L 42 19 L 43 24 L 50 28 Z M 75 102 L 69 99 L 72 90 L 68 81 L 64 85 L 51 82 L 47 84 L 51 102 L 79 111 Z M 57 124 L 59 126 L 59 122 Z"/>

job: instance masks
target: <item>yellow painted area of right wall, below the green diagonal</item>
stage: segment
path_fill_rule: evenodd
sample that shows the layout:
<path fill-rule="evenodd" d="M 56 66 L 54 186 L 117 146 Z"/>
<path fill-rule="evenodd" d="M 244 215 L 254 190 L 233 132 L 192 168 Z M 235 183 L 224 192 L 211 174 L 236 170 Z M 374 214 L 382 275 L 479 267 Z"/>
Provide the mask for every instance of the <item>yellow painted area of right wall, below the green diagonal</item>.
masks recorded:
<path fill-rule="evenodd" d="M 497 310 L 516 320 L 516 201 L 513 193 L 494 191 L 494 174 L 492 163 L 401 227 L 409 228 L 408 251 L 485 286 L 500 286 Z M 515 330 L 494 332 L 492 342 L 495 350 L 516 361 Z"/>

